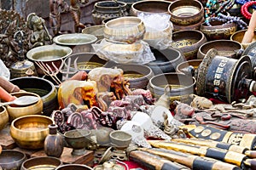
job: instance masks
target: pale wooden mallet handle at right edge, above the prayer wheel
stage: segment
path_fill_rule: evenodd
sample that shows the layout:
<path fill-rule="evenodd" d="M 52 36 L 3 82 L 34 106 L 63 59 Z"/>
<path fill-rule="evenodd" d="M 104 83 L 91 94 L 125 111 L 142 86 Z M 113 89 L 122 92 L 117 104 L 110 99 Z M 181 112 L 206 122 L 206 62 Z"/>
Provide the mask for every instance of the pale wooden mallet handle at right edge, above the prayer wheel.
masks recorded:
<path fill-rule="evenodd" d="M 241 43 L 250 43 L 253 41 L 255 28 L 256 28 L 256 11 L 254 11 L 252 14 L 252 18 L 250 19 L 249 26 L 247 27 L 247 31 L 245 32 L 241 40 Z"/>

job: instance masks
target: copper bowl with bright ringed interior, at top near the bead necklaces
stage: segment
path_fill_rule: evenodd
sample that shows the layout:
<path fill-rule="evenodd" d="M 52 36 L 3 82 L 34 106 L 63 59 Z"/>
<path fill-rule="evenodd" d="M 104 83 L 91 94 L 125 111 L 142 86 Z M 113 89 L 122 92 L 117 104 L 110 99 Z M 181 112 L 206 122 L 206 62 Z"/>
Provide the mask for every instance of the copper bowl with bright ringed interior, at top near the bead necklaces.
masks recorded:
<path fill-rule="evenodd" d="M 197 0 L 177 0 L 170 4 L 171 21 L 178 26 L 194 25 L 204 17 L 204 8 Z"/>

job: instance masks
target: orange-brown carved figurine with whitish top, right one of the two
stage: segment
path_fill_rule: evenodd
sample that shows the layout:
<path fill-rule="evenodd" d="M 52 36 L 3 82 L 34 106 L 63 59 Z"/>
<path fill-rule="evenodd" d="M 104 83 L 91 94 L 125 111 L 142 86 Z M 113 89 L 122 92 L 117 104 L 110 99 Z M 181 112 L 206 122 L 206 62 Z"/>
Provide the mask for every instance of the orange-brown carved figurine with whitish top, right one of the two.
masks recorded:
<path fill-rule="evenodd" d="M 96 82 L 97 99 L 102 111 L 106 111 L 114 99 L 123 99 L 126 95 L 131 95 L 129 83 L 125 81 L 124 71 L 121 69 L 97 67 L 88 73 L 88 79 Z M 106 96 L 109 99 L 106 99 Z"/>

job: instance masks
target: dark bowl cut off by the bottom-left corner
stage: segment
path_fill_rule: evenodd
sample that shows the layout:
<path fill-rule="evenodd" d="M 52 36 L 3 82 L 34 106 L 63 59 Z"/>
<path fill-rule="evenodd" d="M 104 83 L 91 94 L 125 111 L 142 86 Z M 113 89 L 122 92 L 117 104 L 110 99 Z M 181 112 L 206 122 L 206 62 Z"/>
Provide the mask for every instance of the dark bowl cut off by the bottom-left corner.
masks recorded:
<path fill-rule="evenodd" d="M 0 154 L 0 167 L 4 170 L 20 169 L 23 161 L 26 154 L 18 150 L 3 150 Z"/>

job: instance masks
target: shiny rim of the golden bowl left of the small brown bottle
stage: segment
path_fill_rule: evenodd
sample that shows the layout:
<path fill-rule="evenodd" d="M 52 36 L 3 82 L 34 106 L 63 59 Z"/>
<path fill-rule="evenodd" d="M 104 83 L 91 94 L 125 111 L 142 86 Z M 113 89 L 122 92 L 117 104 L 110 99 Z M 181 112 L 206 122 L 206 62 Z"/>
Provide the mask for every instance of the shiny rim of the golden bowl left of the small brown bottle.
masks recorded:
<path fill-rule="evenodd" d="M 32 130 L 32 131 L 22 130 L 22 129 L 20 129 L 20 128 L 15 126 L 15 122 L 18 122 L 18 121 L 20 121 L 20 119 L 25 119 L 27 117 L 41 117 L 41 118 L 50 120 L 51 122 L 49 124 L 54 124 L 55 123 L 55 121 L 52 118 L 50 118 L 49 116 L 44 116 L 44 115 L 26 115 L 26 116 L 19 116 L 19 117 L 15 118 L 15 120 L 13 120 L 11 122 L 10 127 L 13 127 L 16 131 L 19 131 L 20 133 L 26 133 L 26 132 L 38 133 L 38 132 L 44 132 L 45 130 L 49 130 L 48 126 L 45 127 L 44 129 L 38 129 L 38 130 Z"/>

